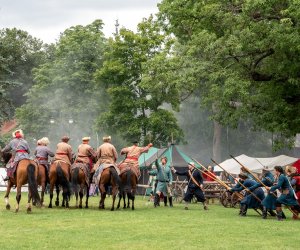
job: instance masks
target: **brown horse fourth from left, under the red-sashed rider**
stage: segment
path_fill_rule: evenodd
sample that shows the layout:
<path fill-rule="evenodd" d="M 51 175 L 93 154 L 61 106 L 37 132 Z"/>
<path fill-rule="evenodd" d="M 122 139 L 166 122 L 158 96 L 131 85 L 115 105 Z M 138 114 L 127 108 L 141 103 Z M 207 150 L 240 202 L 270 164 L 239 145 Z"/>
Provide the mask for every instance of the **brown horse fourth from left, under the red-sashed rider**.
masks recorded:
<path fill-rule="evenodd" d="M 87 178 L 89 177 L 87 177 L 85 171 L 83 171 L 83 168 L 85 167 L 86 167 L 85 163 L 77 162 L 72 165 L 72 170 L 71 170 L 72 185 L 76 197 L 76 207 L 79 208 L 82 208 L 82 198 L 83 198 L 84 189 L 86 190 L 85 208 L 89 207 L 88 200 L 89 200 L 90 182 L 89 181 L 87 182 Z M 80 187 L 79 206 L 78 206 L 78 185 Z"/>

